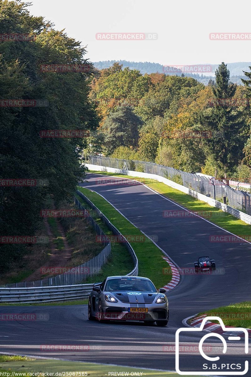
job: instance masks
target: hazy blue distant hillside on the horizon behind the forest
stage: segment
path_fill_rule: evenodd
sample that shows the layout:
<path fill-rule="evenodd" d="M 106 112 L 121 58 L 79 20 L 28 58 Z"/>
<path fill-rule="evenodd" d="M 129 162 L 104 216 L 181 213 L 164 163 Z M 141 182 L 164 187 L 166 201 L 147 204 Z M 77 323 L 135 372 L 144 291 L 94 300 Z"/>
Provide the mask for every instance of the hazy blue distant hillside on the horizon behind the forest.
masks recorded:
<path fill-rule="evenodd" d="M 138 69 L 142 75 L 148 73 L 163 73 L 163 65 L 159 63 L 150 63 L 149 61 L 127 61 L 127 60 L 105 60 L 105 61 L 94 61 L 93 64 L 97 69 L 104 69 L 111 67 L 113 63 L 118 61 L 120 64 L 123 64 L 123 67 L 129 67 L 130 69 Z M 221 62 L 220 62 L 221 63 Z M 208 81 L 214 79 L 214 72 L 218 67 L 218 64 L 211 64 L 213 75 L 212 76 L 205 76 L 199 74 L 185 74 L 185 76 L 193 77 L 199 82 L 203 84 L 207 84 Z M 251 66 L 251 62 L 238 62 L 238 63 L 227 63 L 228 69 L 230 70 L 230 81 L 237 84 L 242 84 L 241 78 L 244 78 L 243 70 L 249 71 L 249 66 Z M 177 72 L 177 75 L 181 75 L 182 72 Z"/>

